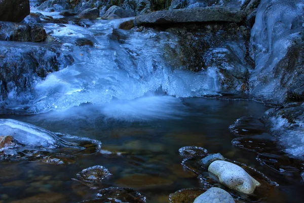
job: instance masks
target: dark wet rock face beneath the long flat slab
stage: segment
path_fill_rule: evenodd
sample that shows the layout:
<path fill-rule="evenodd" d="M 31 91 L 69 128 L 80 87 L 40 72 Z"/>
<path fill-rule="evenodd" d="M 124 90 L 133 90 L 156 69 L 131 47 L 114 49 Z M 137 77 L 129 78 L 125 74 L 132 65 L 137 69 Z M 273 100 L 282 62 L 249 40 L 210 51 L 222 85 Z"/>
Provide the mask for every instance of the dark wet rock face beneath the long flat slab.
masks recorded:
<path fill-rule="evenodd" d="M 248 56 L 248 36 L 244 35 L 247 32 L 239 25 L 186 23 L 166 31 L 171 38 L 177 37 L 178 44 L 175 40 L 164 48 L 164 57 L 172 67 L 212 77 L 214 83 L 209 89 L 216 87 L 216 93 L 221 95 L 246 96 L 243 93 L 249 91 L 249 72 L 254 64 Z"/>

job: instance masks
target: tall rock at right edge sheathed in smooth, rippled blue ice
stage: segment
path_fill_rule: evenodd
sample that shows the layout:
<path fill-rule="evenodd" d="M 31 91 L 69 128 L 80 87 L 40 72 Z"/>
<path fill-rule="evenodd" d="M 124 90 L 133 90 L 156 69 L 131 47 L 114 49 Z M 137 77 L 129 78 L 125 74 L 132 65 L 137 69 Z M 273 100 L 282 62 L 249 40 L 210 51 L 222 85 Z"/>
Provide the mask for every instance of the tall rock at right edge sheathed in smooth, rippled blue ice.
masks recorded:
<path fill-rule="evenodd" d="M 288 91 L 303 92 L 303 46 L 297 45 L 302 41 L 303 7 L 302 0 L 260 2 L 251 30 L 255 70 L 249 84 L 256 100 L 282 104 Z"/>

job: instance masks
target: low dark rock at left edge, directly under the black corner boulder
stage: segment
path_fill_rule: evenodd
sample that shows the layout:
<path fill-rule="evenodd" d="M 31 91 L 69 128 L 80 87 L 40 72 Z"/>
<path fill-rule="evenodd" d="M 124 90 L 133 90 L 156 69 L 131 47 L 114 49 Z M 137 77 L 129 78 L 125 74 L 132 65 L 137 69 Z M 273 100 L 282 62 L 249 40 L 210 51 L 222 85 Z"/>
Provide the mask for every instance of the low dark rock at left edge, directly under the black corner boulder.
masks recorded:
<path fill-rule="evenodd" d="M 34 24 L 0 22 L 0 40 L 43 42 L 47 38 L 43 27 Z"/>

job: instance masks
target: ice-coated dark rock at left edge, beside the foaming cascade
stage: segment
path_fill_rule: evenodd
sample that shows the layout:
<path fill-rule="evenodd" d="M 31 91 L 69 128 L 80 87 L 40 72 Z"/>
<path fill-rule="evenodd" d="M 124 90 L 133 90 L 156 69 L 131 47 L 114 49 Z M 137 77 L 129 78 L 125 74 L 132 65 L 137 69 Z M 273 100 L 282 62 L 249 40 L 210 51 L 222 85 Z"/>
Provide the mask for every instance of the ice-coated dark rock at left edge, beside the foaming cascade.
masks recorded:
<path fill-rule="evenodd" d="M 9 43 L 9 46 L 8 46 Z M 0 42 L 0 104 L 26 104 L 32 87 L 49 73 L 71 64 L 73 58 L 60 46 Z"/>

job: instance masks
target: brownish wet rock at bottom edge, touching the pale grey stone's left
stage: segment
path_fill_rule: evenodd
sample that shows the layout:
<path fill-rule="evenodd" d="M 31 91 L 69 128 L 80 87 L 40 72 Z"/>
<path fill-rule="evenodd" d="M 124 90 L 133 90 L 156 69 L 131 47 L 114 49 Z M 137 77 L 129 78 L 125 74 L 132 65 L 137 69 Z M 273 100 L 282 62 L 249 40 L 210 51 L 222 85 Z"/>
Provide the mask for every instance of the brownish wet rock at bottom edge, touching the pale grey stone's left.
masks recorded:
<path fill-rule="evenodd" d="M 169 200 L 172 203 L 193 202 L 196 197 L 200 196 L 206 190 L 203 188 L 187 188 L 181 189 L 169 195 Z"/>

